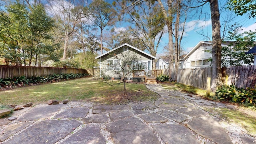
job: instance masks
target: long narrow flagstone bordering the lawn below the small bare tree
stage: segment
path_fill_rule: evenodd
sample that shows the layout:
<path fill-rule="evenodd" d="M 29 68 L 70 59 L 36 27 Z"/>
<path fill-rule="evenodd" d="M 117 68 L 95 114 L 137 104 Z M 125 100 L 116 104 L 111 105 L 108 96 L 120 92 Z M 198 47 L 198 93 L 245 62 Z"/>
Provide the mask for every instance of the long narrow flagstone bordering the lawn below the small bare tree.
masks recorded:
<path fill-rule="evenodd" d="M 122 110 L 130 110 L 127 105 L 95 105 L 92 109 L 93 114 L 102 114 L 108 112 L 120 112 Z"/>

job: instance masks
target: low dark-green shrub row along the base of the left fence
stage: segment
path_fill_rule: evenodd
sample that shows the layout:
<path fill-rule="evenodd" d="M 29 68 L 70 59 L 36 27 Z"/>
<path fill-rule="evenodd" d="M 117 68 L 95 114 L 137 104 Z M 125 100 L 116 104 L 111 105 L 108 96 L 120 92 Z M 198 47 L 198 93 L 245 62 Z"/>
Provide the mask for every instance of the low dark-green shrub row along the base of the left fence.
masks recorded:
<path fill-rule="evenodd" d="M 5 86 L 25 86 L 25 84 L 33 83 L 46 83 L 46 82 L 58 82 L 60 80 L 76 79 L 88 76 L 88 74 L 51 74 L 49 76 L 32 76 L 26 78 L 25 76 L 14 78 L 0 78 L 0 89 Z"/>

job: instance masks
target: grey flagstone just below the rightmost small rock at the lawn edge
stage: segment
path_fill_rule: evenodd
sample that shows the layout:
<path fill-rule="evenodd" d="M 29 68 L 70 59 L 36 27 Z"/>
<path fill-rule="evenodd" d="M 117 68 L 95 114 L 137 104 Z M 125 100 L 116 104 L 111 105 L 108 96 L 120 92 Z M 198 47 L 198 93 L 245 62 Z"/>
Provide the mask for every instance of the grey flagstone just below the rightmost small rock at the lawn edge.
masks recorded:
<path fill-rule="evenodd" d="M 82 118 L 89 112 L 87 107 L 66 108 L 63 112 L 56 114 L 55 118 Z"/>

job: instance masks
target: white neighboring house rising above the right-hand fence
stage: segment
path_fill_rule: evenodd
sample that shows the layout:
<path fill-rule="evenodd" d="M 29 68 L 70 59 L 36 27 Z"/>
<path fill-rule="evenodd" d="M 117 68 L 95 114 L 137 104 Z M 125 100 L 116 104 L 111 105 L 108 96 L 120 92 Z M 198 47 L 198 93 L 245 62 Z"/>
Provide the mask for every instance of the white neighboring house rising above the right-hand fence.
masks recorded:
<path fill-rule="evenodd" d="M 228 46 L 230 42 L 222 43 L 222 46 Z M 183 68 L 202 68 L 210 66 L 209 59 L 212 58 L 210 52 L 212 43 L 208 41 L 200 41 L 188 54 L 184 57 Z"/>

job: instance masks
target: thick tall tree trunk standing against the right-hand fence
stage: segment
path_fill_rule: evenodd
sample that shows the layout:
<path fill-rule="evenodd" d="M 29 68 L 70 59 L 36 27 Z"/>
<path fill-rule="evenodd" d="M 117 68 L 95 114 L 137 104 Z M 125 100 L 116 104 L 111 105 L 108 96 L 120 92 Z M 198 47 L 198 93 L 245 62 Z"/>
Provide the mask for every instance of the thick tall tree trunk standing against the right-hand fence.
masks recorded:
<path fill-rule="evenodd" d="M 211 90 L 221 84 L 221 37 L 220 12 L 218 0 L 209 0 L 212 19 L 212 86 Z"/>

